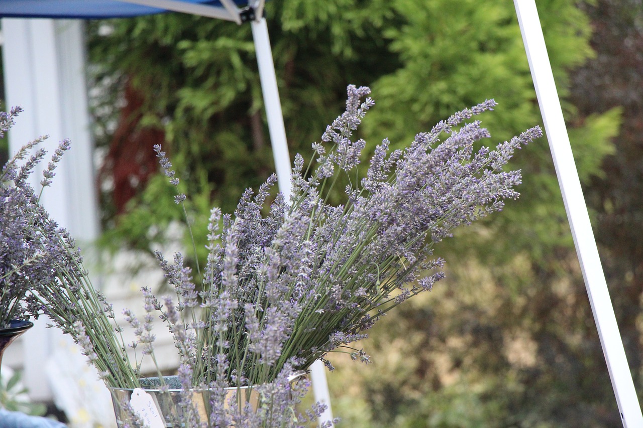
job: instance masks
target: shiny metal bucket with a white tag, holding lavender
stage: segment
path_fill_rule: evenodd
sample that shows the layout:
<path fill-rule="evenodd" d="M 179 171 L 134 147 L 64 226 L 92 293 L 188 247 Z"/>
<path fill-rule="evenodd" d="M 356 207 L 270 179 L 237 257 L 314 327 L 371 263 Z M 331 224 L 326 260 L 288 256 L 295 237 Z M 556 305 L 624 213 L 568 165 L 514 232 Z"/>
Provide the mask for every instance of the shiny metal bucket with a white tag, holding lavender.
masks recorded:
<path fill-rule="evenodd" d="M 307 373 L 300 370 L 289 376 L 288 381 L 293 385 L 299 380 L 305 378 L 307 378 Z M 168 389 L 167 391 L 159 390 L 158 378 L 141 379 L 141 386 L 143 386 L 143 391 L 149 395 L 149 397 L 146 396 L 146 398 L 151 400 L 153 403 L 150 404 L 150 406 L 153 406 L 152 412 L 158 413 L 160 420 L 163 422 L 163 426 L 167 428 L 178 428 L 181 425 L 174 424 L 172 421 L 183 420 L 183 410 L 181 409 L 181 406 L 179 406 L 179 403 L 183 398 L 181 396 L 182 393 L 185 393 L 186 391 L 179 389 L 180 384 L 176 376 L 166 376 L 163 379 L 170 388 L 174 389 Z M 125 409 L 123 404 L 129 404 L 131 402 L 132 395 L 134 395 L 135 390 L 126 388 L 108 388 L 112 395 L 116 424 L 119 428 L 122 428 L 125 426 L 125 422 L 130 420 L 131 415 L 130 411 Z M 191 389 L 188 393 L 190 394 L 190 399 L 192 400 L 194 408 L 199 414 L 199 422 L 205 422 L 210 426 L 210 413 L 212 410 L 210 398 L 214 394 L 214 391 L 212 389 Z M 248 386 L 226 388 L 225 397 L 226 408 L 230 406 L 230 402 L 234 402 L 236 400 L 237 403 L 242 405 L 250 403 L 252 408 L 256 410 L 259 401 L 257 390 L 249 388 Z"/>

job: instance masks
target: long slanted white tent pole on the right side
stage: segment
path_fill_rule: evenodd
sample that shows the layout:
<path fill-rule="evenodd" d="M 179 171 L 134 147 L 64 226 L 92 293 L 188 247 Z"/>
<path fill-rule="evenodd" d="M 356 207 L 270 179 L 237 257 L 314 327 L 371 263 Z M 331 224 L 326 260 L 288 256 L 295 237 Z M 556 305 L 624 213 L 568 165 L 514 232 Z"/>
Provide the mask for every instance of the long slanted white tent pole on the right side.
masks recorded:
<path fill-rule="evenodd" d="M 583 190 L 572 156 L 536 3 L 534 0 L 514 0 L 514 5 L 620 417 L 626 428 L 643 427 L 643 415 L 620 339 L 619 326 L 611 305 Z M 588 375 L 591 376 L 591 373 Z"/>

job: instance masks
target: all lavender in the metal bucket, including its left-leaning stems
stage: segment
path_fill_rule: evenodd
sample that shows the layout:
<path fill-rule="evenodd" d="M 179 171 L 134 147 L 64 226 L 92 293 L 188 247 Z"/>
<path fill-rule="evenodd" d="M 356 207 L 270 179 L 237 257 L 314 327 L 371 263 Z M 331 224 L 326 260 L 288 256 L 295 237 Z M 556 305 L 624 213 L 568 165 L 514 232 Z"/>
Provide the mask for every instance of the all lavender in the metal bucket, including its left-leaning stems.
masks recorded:
<path fill-rule="evenodd" d="M 180 253 L 172 261 L 157 254 L 176 296 L 158 299 L 143 289 L 143 320 L 125 312 L 135 343 L 122 341 L 113 308 L 91 287 L 70 245 L 55 267 L 56 281 L 28 296 L 29 308 L 73 335 L 105 383 L 116 388 L 140 387 L 141 359 L 156 361 L 152 321 L 158 313 L 174 335 L 182 390 L 249 386 L 272 397 L 262 398 L 257 413 L 248 411 L 247 402 L 226 406 L 224 393 L 215 393 L 212 426 L 301 424 L 306 416 L 284 411 L 301 397 L 291 394 L 287 375 L 317 359 L 332 369 L 325 359 L 329 352 L 368 362 L 354 343 L 379 317 L 443 277 L 435 244 L 518 197 L 520 172 L 503 166 L 516 149 L 541 136 L 535 127 L 493 150 L 475 151 L 474 144 L 489 133 L 470 120 L 493 110 L 489 100 L 418 134 L 404 150 L 390 151 L 385 139 L 359 177 L 366 143 L 353 141 L 352 134 L 374 105 L 368 94 L 367 87 L 349 86 L 346 111 L 312 145 L 316 159 L 304 165 L 302 156 L 295 157 L 289 200 L 278 193 L 262 215 L 276 183 L 272 176 L 257 193 L 247 190 L 233 215 L 212 210 L 207 264 L 203 272 L 197 266 L 201 287 Z M 178 186 L 165 153 L 155 150 L 170 183 Z M 347 202 L 329 203 L 329 193 L 343 180 Z M 179 191 L 177 204 L 185 199 Z M 133 361 L 127 346 L 140 350 Z M 284 390 L 275 401 L 276 391 Z M 182 417 L 200 426 L 185 397 Z M 271 419 L 276 417 L 282 419 Z"/>

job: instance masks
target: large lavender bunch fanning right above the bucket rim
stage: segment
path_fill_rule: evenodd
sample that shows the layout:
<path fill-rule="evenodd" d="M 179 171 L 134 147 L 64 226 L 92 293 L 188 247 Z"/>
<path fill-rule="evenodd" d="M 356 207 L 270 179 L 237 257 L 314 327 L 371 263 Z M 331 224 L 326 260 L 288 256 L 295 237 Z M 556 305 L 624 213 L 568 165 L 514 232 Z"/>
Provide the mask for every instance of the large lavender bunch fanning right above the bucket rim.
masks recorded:
<path fill-rule="evenodd" d="M 365 141 L 352 140 L 374 102 L 367 87 L 349 86 L 347 109 L 312 146 L 316 161 L 297 155 L 293 194 L 280 194 L 269 215 L 261 210 L 276 182 L 244 193 L 235 214 L 212 210 L 203 292 L 197 294 L 181 256 L 161 265 L 182 297 L 181 308 L 201 307 L 194 334 L 181 350 L 197 382 L 262 384 L 286 365 L 308 368 L 340 351 L 368 362 L 352 343 L 404 300 L 430 290 L 444 260 L 433 245 L 460 225 L 500 211 L 516 199 L 518 171 L 503 171 L 514 150 L 541 136 L 536 127 L 494 150 L 473 144 L 489 133 L 478 121 L 493 100 L 454 114 L 405 150 L 377 146 L 365 177 L 358 165 Z M 461 125 L 456 129 L 458 125 Z M 442 135 L 447 138 L 440 142 Z M 325 145 L 329 146 L 328 148 Z M 161 148 L 161 165 L 178 184 Z M 347 203 L 327 202 L 345 175 Z M 177 195 L 177 203 L 185 195 Z"/>

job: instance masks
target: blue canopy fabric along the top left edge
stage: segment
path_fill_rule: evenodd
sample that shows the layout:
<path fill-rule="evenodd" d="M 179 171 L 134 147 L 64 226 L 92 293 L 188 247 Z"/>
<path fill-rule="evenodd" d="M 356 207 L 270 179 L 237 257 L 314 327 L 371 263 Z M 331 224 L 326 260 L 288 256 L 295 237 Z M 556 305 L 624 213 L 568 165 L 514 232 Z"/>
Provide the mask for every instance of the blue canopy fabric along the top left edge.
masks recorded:
<path fill-rule="evenodd" d="M 233 0 L 246 6 L 247 0 Z M 223 8 L 218 0 L 179 0 L 176 3 Z M 121 18 L 167 12 L 168 8 L 118 0 L 0 0 L 0 16 L 21 18 Z"/>

